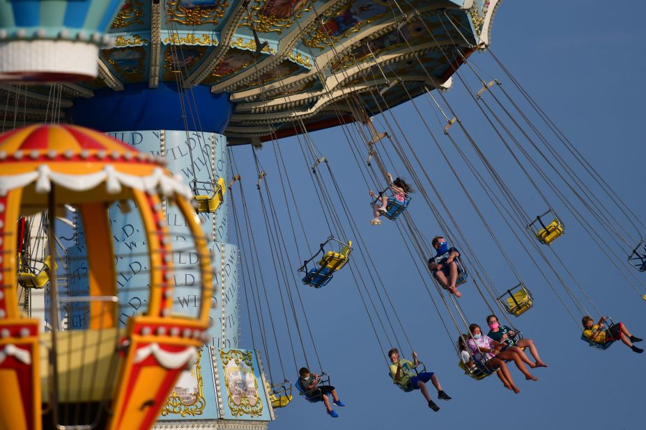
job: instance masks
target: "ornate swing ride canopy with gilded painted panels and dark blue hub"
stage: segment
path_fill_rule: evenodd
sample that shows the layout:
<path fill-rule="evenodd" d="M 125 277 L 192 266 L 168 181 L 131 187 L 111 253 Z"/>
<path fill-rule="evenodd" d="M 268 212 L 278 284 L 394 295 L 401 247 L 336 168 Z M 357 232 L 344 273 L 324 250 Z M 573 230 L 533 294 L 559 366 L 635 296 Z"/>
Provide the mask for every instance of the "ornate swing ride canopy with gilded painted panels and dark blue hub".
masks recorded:
<path fill-rule="evenodd" d="M 26 21 L 33 10 L 22 3 L 38 2 L 0 1 L 15 17 L 0 22 L 6 27 L 0 35 L 33 44 L 45 32 Z M 47 107 L 56 100 L 62 122 L 103 132 L 192 126 L 225 134 L 230 144 L 333 127 L 355 120 L 351 94 L 372 114 L 449 86 L 463 59 L 489 43 L 498 6 L 497 0 L 245 3 L 126 0 L 109 29 L 114 47 L 100 51 L 96 79 L 63 84 L 56 94 L 3 84 L 8 103 L 0 114 L 38 122 L 52 115 Z M 45 12 L 40 6 L 40 16 Z M 255 35 L 263 45 L 258 51 Z M 181 102 L 178 88 L 190 90 Z M 374 90 L 384 90 L 383 99 Z M 13 106 L 18 97 L 26 97 L 24 105 Z M 183 118 L 189 105 L 190 118 Z"/>

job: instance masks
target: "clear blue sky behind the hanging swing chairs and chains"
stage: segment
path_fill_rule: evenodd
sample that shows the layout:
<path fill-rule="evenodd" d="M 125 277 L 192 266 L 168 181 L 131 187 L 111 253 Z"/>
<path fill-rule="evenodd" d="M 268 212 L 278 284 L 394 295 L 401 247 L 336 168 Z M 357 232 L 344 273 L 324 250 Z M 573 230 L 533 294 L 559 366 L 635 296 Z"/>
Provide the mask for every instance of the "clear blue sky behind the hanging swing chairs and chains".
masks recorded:
<path fill-rule="evenodd" d="M 500 6 L 493 26 L 492 47 L 495 54 L 512 70 L 528 91 L 537 99 L 576 147 L 585 154 L 601 175 L 617 190 L 629 205 L 643 216 L 646 204 L 643 199 L 643 162 L 646 145 L 643 136 L 643 100 L 646 90 L 643 85 L 645 61 L 638 52 L 636 43 L 642 37 L 643 16 L 646 6 L 631 2 L 630 7 L 617 7 L 607 1 L 504 1 Z M 472 56 L 479 70 L 493 76 L 510 87 L 502 72 L 490 61 L 489 54 Z M 469 79 L 472 74 L 465 67 L 461 72 Z M 493 136 L 476 106 L 466 96 L 458 81 L 446 93 L 449 102 L 463 118 L 466 127 L 477 143 L 491 158 L 498 173 L 505 178 L 523 202 L 530 214 L 543 209 L 535 191 L 518 169 L 502 152 L 500 141 Z M 437 114 L 425 100 L 424 115 L 433 127 L 440 142 L 449 148 L 449 141 L 441 134 Z M 455 181 L 447 173 L 443 161 L 431 148 L 429 136 L 420 118 L 409 104 L 394 109 L 433 183 L 445 191 L 452 213 L 465 230 L 470 244 L 486 265 L 498 289 L 507 289 L 514 279 L 482 223 L 468 205 Z M 456 127 L 454 127 L 456 128 Z M 455 136 L 466 148 L 466 139 L 459 132 Z M 341 182 L 344 199 L 351 208 L 353 218 L 367 241 L 369 253 L 374 258 L 380 275 L 387 285 L 395 308 L 406 326 L 415 350 L 426 363 L 427 369 L 436 372 L 452 401 L 440 403 L 441 410 L 433 413 L 427 408 L 419 392 L 405 394 L 394 387 L 387 378 L 384 351 L 380 351 L 367 314 L 353 284 L 351 273 L 344 269 L 335 276 L 328 287 L 312 289 L 297 285 L 312 332 L 321 356 L 323 369 L 332 375 L 332 384 L 337 387 L 347 407 L 339 410 L 339 418 L 325 414 L 321 404 L 309 404 L 297 398 L 287 408 L 277 410 L 277 421 L 270 429 L 388 429 L 433 427 L 450 429 L 472 425 L 485 427 L 521 426 L 531 429 L 642 429 L 645 388 L 643 369 L 646 353 L 638 355 L 621 344 L 608 351 L 597 351 L 579 340 L 580 331 L 557 301 L 546 283 L 530 265 L 528 258 L 517 252 L 513 237 L 500 223 L 489 202 L 479 193 L 464 164 L 455 154 L 452 160 L 482 204 L 482 211 L 491 220 L 492 227 L 503 244 L 514 255 L 514 264 L 523 274 L 535 294 L 535 308 L 515 319 L 526 337 L 537 343 L 541 355 L 548 363 L 546 369 L 537 369 L 538 382 L 527 382 L 518 370 L 510 367 L 514 381 L 521 389 L 520 395 L 505 390 L 492 376 L 484 381 L 473 381 L 463 375 L 456 363 L 458 358 L 452 343 L 447 338 L 438 313 L 433 308 L 413 263 L 406 255 L 402 239 L 393 223 L 385 221 L 378 228 L 369 225 L 371 218 L 367 189 L 360 170 L 351 157 L 348 143 L 340 129 L 312 134 L 317 148 L 330 160 L 330 166 Z M 314 250 L 319 241 L 328 235 L 328 228 L 316 200 L 316 190 L 309 179 L 307 168 L 294 138 L 280 142 L 287 174 L 295 186 L 299 209 L 311 241 L 301 241 L 304 248 Z M 279 333 L 279 344 L 287 377 L 295 380 L 296 372 L 287 340 L 284 316 L 277 301 L 278 290 L 271 269 L 272 256 L 266 244 L 263 218 L 255 189 L 255 172 L 251 150 L 248 146 L 233 150 L 236 163 L 243 174 L 247 202 L 252 212 L 255 235 L 263 259 L 263 273 L 267 288 L 272 295 L 272 310 Z M 259 151 L 263 168 L 268 173 L 272 186 L 272 198 L 278 206 L 277 215 L 282 220 L 288 248 L 284 255 L 295 270 L 307 257 L 298 255 L 291 239 L 289 219 L 284 210 L 279 173 L 275 168 L 271 144 Z M 409 177 L 395 163 L 393 173 Z M 284 175 L 284 172 L 281 173 Z M 327 178 L 327 175 L 323 175 Z M 590 180 L 588 180 L 590 184 Z M 328 189 L 332 190 L 331 184 Z M 237 189 L 234 192 L 238 193 Z M 548 198 L 562 214 L 567 225 L 567 235 L 554 244 L 556 251 L 551 258 L 564 261 L 576 280 L 590 294 L 592 301 L 615 321 L 623 321 L 633 333 L 646 337 L 643 320 L 646 303 L 610 265 L 601 251 L 583 232 L 583 228 L 567 214 L 556 198 Z M 236 202 L 240 202 L 239 193 Z M 336 198 L 335 198 L 336 199 Z M 577 204 L 580 207 L 580 204 Z M 330 208 L 330 211 L 334 210 Z M 420 230 L 430 239 L 440 232 L 422 196 L 417 193 L 410 205 L 410 214 Z M 341 218 L 344 218 L 341 214 Z M 344 221 L 346 222 L 346 221 Z M 233 220 L 230 218 L 230 237 L 235 241 Z M 298 230 L 299 226 L 295 225 Z M 646 232 L 641 232 L 646 234 Z M 627 246 L 617 247 L 604 240 L 610 253 L 624 258 Z M 550 255 L 550 254 L 548 254 Z M 353 264 L 366 271 L 360 263 L 358 252 Z M 560 273 L 564 274 L 561 269 Z M 642 280 L 646 274 L 639 273 Z M 571 280 L 568 284 L 576 289 Z M 293 287 L 293 286 L 292 286 Z M 371 292 L 374 287 L 369 286 Z M 485 326 L 488 310 L 473 288 L 472 282 L 461 287 L 463 305 L 470 321 Z M 643 293 L 644 291 L 642 291 Z M 244 294 L 240 292 L 240 345 L 251 347 Z M 591 308 L 585 303 L 587 308 Z M 597 315 L 594 315 L 597 317 Z M 446 311 L 443 311 L 446 317 Z M 578 318 L 578 315 L 577 315 Z M 268 324 L 268 319 L 266 319 Z M 384 320 L 385 321 L 385 320 Z M 450 327 L 449 327 L 450 328 Z M 293 326 L 292 326 L 293 329 Z M 398 332 L 399 333 L 399 332 Z M 456 332 L 452 329 L 452 337 Z M 306 333 L 307 354 L 311 363 L 316 363 L 309 337 Z M 260 348 L 259 335 L 256 347 Z M 401 340 L 403 345 L 406 342 Z M 275 344 L 270 340 L 272 371 L 275 379 L 282 372 L 275 355 Z M 295 353 L 302 358 L 300 344 L 295 339 Z M 408 347 L 405 347 L 408 349 Z M 410 357 L 410 351 L 404 352 Z M 299 360 L 298 366 L 302 365 Z M 312 367 L 318 371 L 318 365 Z M 296 395 L 296 391 L 294 390 Z M 298 396 L 297 396 L 298 397 Z M 513 423 L 513 424 L 512 424 Z"/>

